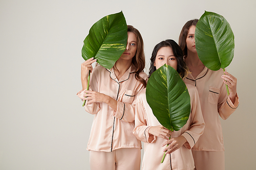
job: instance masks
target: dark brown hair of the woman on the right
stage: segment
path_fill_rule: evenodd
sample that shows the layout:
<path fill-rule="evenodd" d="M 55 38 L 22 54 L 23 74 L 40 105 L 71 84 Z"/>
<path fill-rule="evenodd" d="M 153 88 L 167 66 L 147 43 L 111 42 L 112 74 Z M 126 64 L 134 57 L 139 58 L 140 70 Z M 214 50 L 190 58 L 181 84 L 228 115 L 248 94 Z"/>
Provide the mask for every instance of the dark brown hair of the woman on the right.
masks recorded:
<path fill-rule="evenodd" d="M 187 39 L 188 30 L 191 26 L 197 26 L 197 22 L 198 22 L 198 19 L 192 19 L 187 21 L 180 32 L 179 45 L 181 47 L 181 50 L 183 51 L 184 58 L 187 57 L 186 39 Z"/>

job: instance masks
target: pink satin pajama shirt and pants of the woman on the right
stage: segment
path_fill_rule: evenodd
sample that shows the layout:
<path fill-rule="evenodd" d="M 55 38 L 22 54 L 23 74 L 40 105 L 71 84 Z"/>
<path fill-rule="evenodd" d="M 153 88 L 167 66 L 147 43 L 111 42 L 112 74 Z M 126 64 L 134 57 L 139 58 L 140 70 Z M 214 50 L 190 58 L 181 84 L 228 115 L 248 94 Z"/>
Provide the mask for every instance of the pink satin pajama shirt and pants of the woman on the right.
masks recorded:
<path fill-rule="evenodd" d="M 195 164 L 198 165 L 197 170 L 225 169 L 224 142 L 219 116 L 227 119 L 237 109 L 239 98 L 236 94 L 236 101 L 234 104 L 231 102 L 222 75 L 223 69 L 212 71 L 204 67 L 196 79 L 188 74 L 184 80 L 185 83 L 196 86 L 205 122 L 204 133 L 192 148 Z"/>

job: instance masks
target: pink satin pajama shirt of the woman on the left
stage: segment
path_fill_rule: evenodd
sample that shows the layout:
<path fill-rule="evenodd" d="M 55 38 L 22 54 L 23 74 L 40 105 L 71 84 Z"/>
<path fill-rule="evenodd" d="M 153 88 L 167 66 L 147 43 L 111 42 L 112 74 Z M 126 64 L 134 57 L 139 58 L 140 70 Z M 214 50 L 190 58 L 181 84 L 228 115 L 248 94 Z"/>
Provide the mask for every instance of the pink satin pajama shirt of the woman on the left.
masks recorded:
<path fill-rule="evenodd" d="M 120 80 L 116 78 L 114 69 L 106 69 L 100 65 L 92 71 L 90 90 L 104 93 L 117 101 L 117 111 L 108 104 L 91 103 L 84 108 L 94 115 L 87 150 L 111 152 L 121 148 L 139 148 L 141 142 L 133 135 L 135 104 L 138 93 L 144 86 L 135 78 L 135 66 L 125 72 Z M 147 75 L 140 73 L 147 81 Z M 84 99 L 84 92 L 77 93 Z"/>

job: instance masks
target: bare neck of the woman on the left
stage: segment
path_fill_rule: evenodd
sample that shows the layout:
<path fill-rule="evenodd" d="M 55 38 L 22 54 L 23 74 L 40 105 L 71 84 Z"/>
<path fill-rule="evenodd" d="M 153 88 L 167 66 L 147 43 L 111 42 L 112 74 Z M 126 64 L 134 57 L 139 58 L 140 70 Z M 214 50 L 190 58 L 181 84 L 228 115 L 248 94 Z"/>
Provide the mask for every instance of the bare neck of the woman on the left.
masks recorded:
<path fill-rule="evenodd" d="M 121 77 L 124 75 L 124 73 L 129 69 L 132 65 L 132 60 L 124 60 L 122 58 L 119 58 L 116 62 L 116 69 L 114 67 L 114 71 L 117 77 L 117 80 L 120 80 Z"/>

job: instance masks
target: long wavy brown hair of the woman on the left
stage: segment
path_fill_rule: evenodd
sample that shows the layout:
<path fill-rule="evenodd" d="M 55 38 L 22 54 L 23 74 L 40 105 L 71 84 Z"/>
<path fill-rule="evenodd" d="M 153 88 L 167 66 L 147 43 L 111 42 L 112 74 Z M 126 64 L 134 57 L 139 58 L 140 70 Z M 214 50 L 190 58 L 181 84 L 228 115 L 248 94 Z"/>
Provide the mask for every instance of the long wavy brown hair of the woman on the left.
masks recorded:
<path fill-rule="evenodd" d="M 145 68 L 145 54 L 144 54 L 144 43 L 142 36 L 136 28 L 133 26 L 127 25 L 127 32 L 134 33 L 137 38 L 137 51 L 135 56 L 133 57 L 132 63 L 136 67 L 135 70 L 135 78 L 140 81 L 144 87 L 146 87 L 146 81 L 142 79 L 139 74 Z"/>

